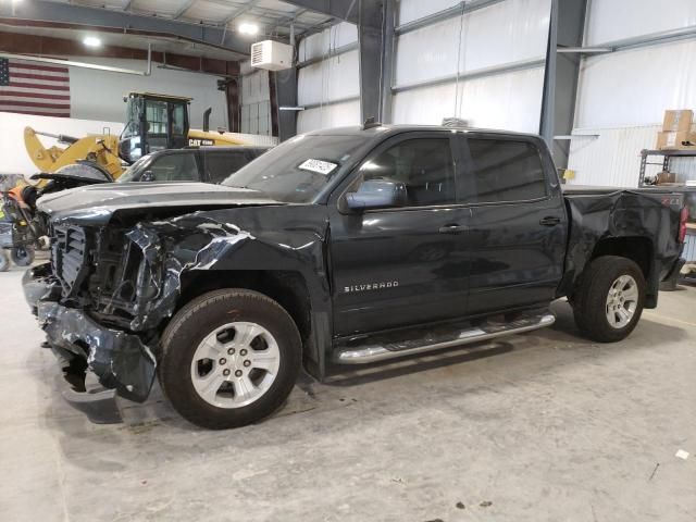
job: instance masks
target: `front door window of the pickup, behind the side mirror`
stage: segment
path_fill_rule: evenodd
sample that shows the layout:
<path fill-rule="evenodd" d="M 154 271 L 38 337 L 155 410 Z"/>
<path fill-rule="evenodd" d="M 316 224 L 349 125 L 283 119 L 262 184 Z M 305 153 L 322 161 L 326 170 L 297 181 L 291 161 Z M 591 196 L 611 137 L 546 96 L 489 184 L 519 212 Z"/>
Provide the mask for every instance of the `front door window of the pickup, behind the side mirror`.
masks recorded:
<path fill-rule="evenodd" d="M 365 162 L 363 181 L 390 179 L 406 186 L 406 207 L 455 202 L 455 166 L 449 138 L 401 141 Z"/>

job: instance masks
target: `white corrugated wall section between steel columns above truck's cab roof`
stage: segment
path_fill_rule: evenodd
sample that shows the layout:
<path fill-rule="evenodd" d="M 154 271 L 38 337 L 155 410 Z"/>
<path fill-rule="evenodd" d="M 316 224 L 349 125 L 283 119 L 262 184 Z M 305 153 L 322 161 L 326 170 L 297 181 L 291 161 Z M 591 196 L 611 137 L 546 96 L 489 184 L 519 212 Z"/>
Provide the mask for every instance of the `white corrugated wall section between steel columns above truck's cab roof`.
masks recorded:
<path fill-rule="evenodd" d="M 401 0 L 399 24 L 457 3 Z M 394 123 L 439 124 L 457 116 L 472 126 L 538 133 L 549 16 L 550 0 L 507 0 L 400 35 Z M 525 71 L 456 79 L 457 74 L 529 61 L 542 63 Z"/>

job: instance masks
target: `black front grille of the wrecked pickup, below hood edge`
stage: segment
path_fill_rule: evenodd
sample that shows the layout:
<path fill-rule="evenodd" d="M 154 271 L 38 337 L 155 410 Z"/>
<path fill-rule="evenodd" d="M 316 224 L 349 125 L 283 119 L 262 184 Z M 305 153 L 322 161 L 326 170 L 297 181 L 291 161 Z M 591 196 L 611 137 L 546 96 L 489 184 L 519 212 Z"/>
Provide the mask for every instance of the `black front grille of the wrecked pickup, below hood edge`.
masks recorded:
<path fill-rule="evenodd" d="M 53 274 L 61 282 L 63 297 L 73 297 L 89 271 L 87 234 L 80 226 L 53 226 L 51 248 Z"/>

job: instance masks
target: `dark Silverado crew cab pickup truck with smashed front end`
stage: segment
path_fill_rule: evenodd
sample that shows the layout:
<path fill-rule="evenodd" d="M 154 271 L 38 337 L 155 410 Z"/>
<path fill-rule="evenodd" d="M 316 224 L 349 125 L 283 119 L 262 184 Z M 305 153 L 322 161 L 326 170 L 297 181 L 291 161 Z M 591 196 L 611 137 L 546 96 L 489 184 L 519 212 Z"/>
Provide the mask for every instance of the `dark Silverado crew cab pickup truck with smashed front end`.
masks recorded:
<path fill-rule="evenodd" d="M 548 326 L 561 297 L 584 335 L 623 339 L 686 221 L 670 191 L 563 194 L 537 136 L 381 125 L 298 136 L 222 186 L 96 185 L 39 210 L 51 262 L 24 287 L 71 401 L 144 401 L 157 375 L 211 428 L 272 413 L 302 366 Z"/>

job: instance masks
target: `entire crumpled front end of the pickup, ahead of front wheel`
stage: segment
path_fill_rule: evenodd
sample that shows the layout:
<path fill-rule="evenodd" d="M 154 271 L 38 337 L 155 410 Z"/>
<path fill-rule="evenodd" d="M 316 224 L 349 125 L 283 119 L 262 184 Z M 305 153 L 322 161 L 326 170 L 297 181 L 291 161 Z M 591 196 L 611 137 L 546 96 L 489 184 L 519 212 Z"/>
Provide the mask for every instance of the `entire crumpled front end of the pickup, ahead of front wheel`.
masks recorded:
<path fill-rule="evenodd" d="M 85 383 L 94 374 L 103 388 L 145 401 L 182 273 L 249 238 L 198 213 L 127 227 L 53 223 L 51 262 L 27 271 L 23 286 L 71 394 L 92 395 Z"/>

